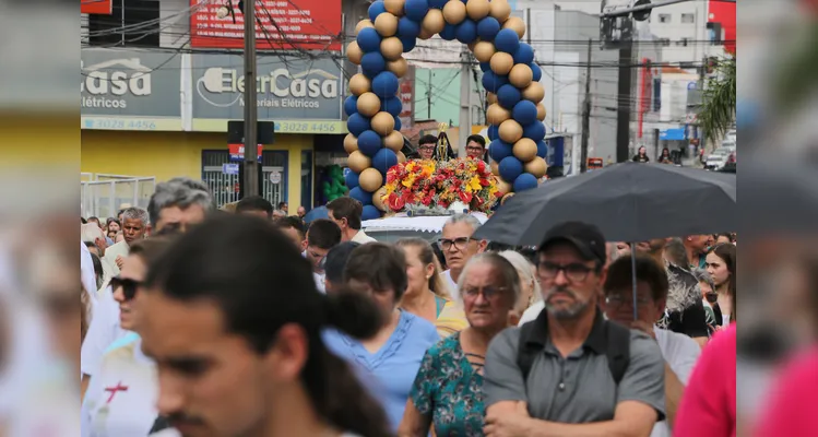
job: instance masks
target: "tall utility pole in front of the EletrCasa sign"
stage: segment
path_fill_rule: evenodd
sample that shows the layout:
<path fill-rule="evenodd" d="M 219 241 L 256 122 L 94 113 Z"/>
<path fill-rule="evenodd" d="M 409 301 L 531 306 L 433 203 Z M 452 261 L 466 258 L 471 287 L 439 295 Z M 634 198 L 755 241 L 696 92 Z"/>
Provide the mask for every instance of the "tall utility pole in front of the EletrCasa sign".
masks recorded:
<path fill-rule="evenodd" d="M 256 104 L 256 0 L 245 1 L 245 197 L 259 194 Z"/>

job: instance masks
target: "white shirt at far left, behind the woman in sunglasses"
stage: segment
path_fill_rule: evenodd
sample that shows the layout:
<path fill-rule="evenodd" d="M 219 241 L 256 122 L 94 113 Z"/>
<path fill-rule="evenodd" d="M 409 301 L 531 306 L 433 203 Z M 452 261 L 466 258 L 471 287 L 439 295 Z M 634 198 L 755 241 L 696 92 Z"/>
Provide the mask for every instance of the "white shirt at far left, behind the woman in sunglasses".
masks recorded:
<path fill-rule="evenodd" d="M 94 376 L 99 370 L 103 355 L 115 341 L 126 336 L 129 331 L 119 326 L 119 304 L 114 300 L 110 287 L 107 287 L 94 307 L 85 341 L 80 351 L 80 370 Z M 93 379 L 93 378 L 92 378 Z"/>

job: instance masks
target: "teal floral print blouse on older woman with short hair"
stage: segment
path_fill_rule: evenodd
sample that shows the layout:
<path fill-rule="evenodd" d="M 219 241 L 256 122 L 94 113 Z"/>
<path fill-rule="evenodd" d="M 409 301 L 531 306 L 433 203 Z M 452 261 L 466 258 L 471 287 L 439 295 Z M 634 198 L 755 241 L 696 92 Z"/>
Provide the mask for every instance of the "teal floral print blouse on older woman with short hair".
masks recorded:
<path fill-rule="evenodd" d="M 410 398 L 420 414 L 431 415 L 438 437 L 484 435 L 483 376 L 469 363 L 460 332 L 426 352 Z"/>

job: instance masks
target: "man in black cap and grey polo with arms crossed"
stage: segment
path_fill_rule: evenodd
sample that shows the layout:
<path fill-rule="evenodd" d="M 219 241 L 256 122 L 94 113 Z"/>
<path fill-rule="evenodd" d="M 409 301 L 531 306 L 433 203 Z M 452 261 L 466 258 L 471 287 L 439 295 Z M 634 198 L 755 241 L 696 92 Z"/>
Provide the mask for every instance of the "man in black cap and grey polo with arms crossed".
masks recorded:
<path fill-rule="evenodd" d="M 602 233 L 554 226 L 537 250 L 545 311 L 486 354 L 485 435 L 649 436 L 665 416 L 664 362 L 647 334 L 606 321 Z"/>

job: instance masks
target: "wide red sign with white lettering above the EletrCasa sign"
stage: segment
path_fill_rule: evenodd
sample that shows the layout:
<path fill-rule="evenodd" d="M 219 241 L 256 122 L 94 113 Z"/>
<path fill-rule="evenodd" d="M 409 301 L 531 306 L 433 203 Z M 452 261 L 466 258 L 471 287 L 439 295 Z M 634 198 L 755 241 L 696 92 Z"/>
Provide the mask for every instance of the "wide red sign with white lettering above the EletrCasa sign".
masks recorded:
<path fill-rule="evenodd" d="M 202 4 L 200 4 L 202 3 Z M 190 47 L 244 48 L 245 16 L 233 1 L 236 22 L 218 10 L 226 1 L 190 0 Z M 256 47 L 269 49 L 341 50 L 341 0 L 257 0 Z"/>

